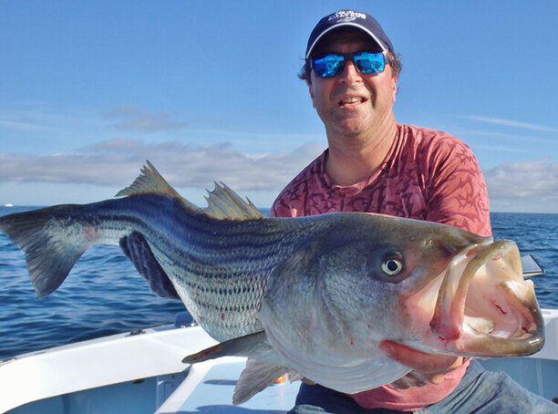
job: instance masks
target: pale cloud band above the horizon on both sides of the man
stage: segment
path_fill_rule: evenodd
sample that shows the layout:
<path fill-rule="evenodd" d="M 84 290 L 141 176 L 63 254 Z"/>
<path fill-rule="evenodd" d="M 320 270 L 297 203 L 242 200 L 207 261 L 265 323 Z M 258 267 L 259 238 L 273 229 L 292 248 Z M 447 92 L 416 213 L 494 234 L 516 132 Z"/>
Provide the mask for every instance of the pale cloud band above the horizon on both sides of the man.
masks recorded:
<path fill-rule="evenodd" d="M 60 186 L 66 186 L 70 193 L 65 202 L 87 198 L 78 193 L 82 189 L 91 197 L 106 198 L 106 191 L 94 196 L 96 190 L 92 186 L 109 187 L 110 195 L 129 185 L 145 160 L 150 160 L 172 186 L 191 189 L 184 193 L 190 200 L 199 197 L 198 202 L 202 202 L 202 190 L 212 189 L 213 181 L 222 181 L 240 195 L 249 195 L 256 205 L 269 206 L 274 195 L 322 150 L 321 142 L 307 142 L 284 152 L 245 153 L 228 143 L 192 146 L 178 141 L 143 143 L 120 139 L 63 154 L 0 154 L 0 192 L 5 192 L 0 195 L 3 202 L 19 202 L 16 196 L 24 188 L 62 191 Z M 558 212 L 557 161 L 504 162 L 483 172 L 492 211 Z M 254 200 L 258 193 L 262 194 L 260 202 Z M 33 193 L 26 195 L 26 200 L 31 197 L 35 197 L 32 203 L 57 202 L 63 194 L 54 200 L 54 196 L 48 199 L 44 194 Z"/>

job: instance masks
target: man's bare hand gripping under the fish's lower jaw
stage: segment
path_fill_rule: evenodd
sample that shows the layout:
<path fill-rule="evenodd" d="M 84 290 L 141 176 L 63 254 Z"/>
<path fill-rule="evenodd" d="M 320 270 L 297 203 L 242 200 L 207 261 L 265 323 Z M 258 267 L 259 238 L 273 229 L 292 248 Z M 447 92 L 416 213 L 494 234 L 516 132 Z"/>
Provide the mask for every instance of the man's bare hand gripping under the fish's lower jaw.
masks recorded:
<path fill-rule="evenodd" d="M 462 357 L 431 355 L 392 341 L 382 341 L 379 349 L 398 363 L 413 370 L 390 385 L 396 389 L 438 385 L 449 371 L 463 364 Z"/>

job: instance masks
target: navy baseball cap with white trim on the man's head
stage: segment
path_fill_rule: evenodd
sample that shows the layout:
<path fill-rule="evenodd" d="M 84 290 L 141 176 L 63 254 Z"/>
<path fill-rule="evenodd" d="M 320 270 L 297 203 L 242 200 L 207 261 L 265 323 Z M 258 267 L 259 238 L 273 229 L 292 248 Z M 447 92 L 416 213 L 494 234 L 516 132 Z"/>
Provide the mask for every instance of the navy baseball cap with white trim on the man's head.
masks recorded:
<path fill-rule="evenodd" d="M 352 26 L 363 30 L 372 37 L 382 50 L 389 49 L 392 53 L 395 53 L 389 37 L 374 17 L 354 10 L 339 10 L 333 15 L 325 16 L 315 25 L 306 46 L 306 58 L 310 57 L 315 45 L 326 33 L 343 26 Z"/>

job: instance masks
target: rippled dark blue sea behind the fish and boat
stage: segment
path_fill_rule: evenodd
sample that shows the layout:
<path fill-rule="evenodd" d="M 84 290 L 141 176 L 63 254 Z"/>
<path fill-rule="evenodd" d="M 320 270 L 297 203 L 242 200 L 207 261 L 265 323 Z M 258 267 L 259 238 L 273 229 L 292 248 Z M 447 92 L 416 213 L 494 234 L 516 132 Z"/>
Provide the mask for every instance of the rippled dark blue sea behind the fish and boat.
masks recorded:
<path fill-rule="evenodd" d="M 31 207 L 0 207 L 0 216 Z M 545 270 L 533 277 L 542 307 L 558 307 L 558 214 L 491 214 L 497 239 L 518 243 Z M 172 324 L 179 301 L 151 294 L 119 247 L 98 245 L 57 291 L 36 299 L 23 253 L 0 233 L 0 359 L 25 352 Z"/>

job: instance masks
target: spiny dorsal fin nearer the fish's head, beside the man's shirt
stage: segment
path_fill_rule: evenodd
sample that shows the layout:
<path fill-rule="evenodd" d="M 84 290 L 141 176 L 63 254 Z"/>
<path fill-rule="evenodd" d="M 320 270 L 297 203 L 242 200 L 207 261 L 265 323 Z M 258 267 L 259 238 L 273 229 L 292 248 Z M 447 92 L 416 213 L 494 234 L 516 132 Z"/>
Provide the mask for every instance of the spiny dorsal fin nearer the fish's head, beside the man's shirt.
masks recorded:
<path fill-rule="evenodd" d="M 208 205 L 206 213 L 215 219 L 253 220 L 265 218 L 263 212 L 260 212 L 250 200 L 246 199 L 246 202 L 244 202 L 236 192 L 223 183 L 215 182 L 215 189 L 207 192 L 209 197 L 205 197 Z"/>

